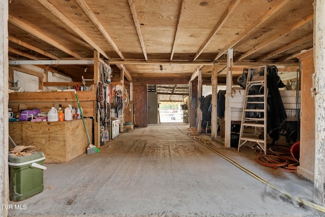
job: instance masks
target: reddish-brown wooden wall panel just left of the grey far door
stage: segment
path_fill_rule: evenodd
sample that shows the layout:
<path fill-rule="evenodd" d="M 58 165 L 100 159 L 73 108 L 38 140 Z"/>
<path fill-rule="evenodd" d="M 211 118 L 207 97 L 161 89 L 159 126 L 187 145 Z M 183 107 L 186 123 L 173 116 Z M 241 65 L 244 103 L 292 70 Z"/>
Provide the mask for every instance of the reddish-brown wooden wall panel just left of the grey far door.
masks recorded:
<path fill-rule="evenodd" d="M 148 127 L 148 87 L 134 83 L 133 100 L 135 122 L 139 127 Z"/>

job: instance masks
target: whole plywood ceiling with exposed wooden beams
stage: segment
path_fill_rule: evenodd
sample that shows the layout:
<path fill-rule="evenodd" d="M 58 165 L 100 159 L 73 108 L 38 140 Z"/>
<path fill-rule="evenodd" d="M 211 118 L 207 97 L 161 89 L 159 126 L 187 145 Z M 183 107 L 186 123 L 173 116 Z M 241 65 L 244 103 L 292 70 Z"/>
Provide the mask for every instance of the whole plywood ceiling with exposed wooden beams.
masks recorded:
<path fill-rule="evenodd" d="M 200 65 L 207 78 L 214 61 L 221 70 L 229 48 L 235 77 L 244 66 L 298 65 L 313 47 L 313 0 L 11 0 L 8 27 L 11 60 L 89 59 L 96 49 L 129 81 L 183 84 Z M 46 67 L 92 77 L 91 66 Z"/>

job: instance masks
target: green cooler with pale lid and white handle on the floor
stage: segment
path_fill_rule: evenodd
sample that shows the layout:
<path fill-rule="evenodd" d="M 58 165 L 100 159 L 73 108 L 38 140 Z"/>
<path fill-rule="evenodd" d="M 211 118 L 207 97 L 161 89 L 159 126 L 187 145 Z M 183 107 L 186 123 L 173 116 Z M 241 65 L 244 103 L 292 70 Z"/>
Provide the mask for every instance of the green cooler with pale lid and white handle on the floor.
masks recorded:
<path fill-rule="evenodd" d="M 8 156 L 10 200 L 21 201 L 41 193 L 44 188 L 44 153 Z"/>

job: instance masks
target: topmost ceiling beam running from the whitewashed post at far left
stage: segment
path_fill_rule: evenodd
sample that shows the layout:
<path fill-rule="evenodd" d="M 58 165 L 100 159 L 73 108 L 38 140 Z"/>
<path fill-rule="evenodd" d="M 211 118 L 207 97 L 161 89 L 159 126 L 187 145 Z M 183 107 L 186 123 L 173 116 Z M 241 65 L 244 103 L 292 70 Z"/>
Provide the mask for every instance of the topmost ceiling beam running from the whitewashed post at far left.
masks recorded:
<path fill-rule="evenodd" d="M 69 55 L 77 58 L 77 59 L 83 59 L 80 55 L 78 55 L 77 53 L 73 52 L 72 50 L 64 47 L 63 45 L 61 45 L 60 43 L 52 40 L 51 38 L 49 38 L 48 36 L 44 35 L 43 33 L 39 32 L 38 30 L 36 30 L 35 28 L 32 28 L 31 26 L 27 25 L 26 23 L 20 21 L 19 19 L 13 17 L 12 15 L 8 16 L 8 22 L 18 26 L 19 28 L 25 30 L 27 33 L 36 36 L 37 38 L 45 41 L 46 43 L 52 45 L 53 47 L 56 47 L 57 49 L 68 53 Z"/>

